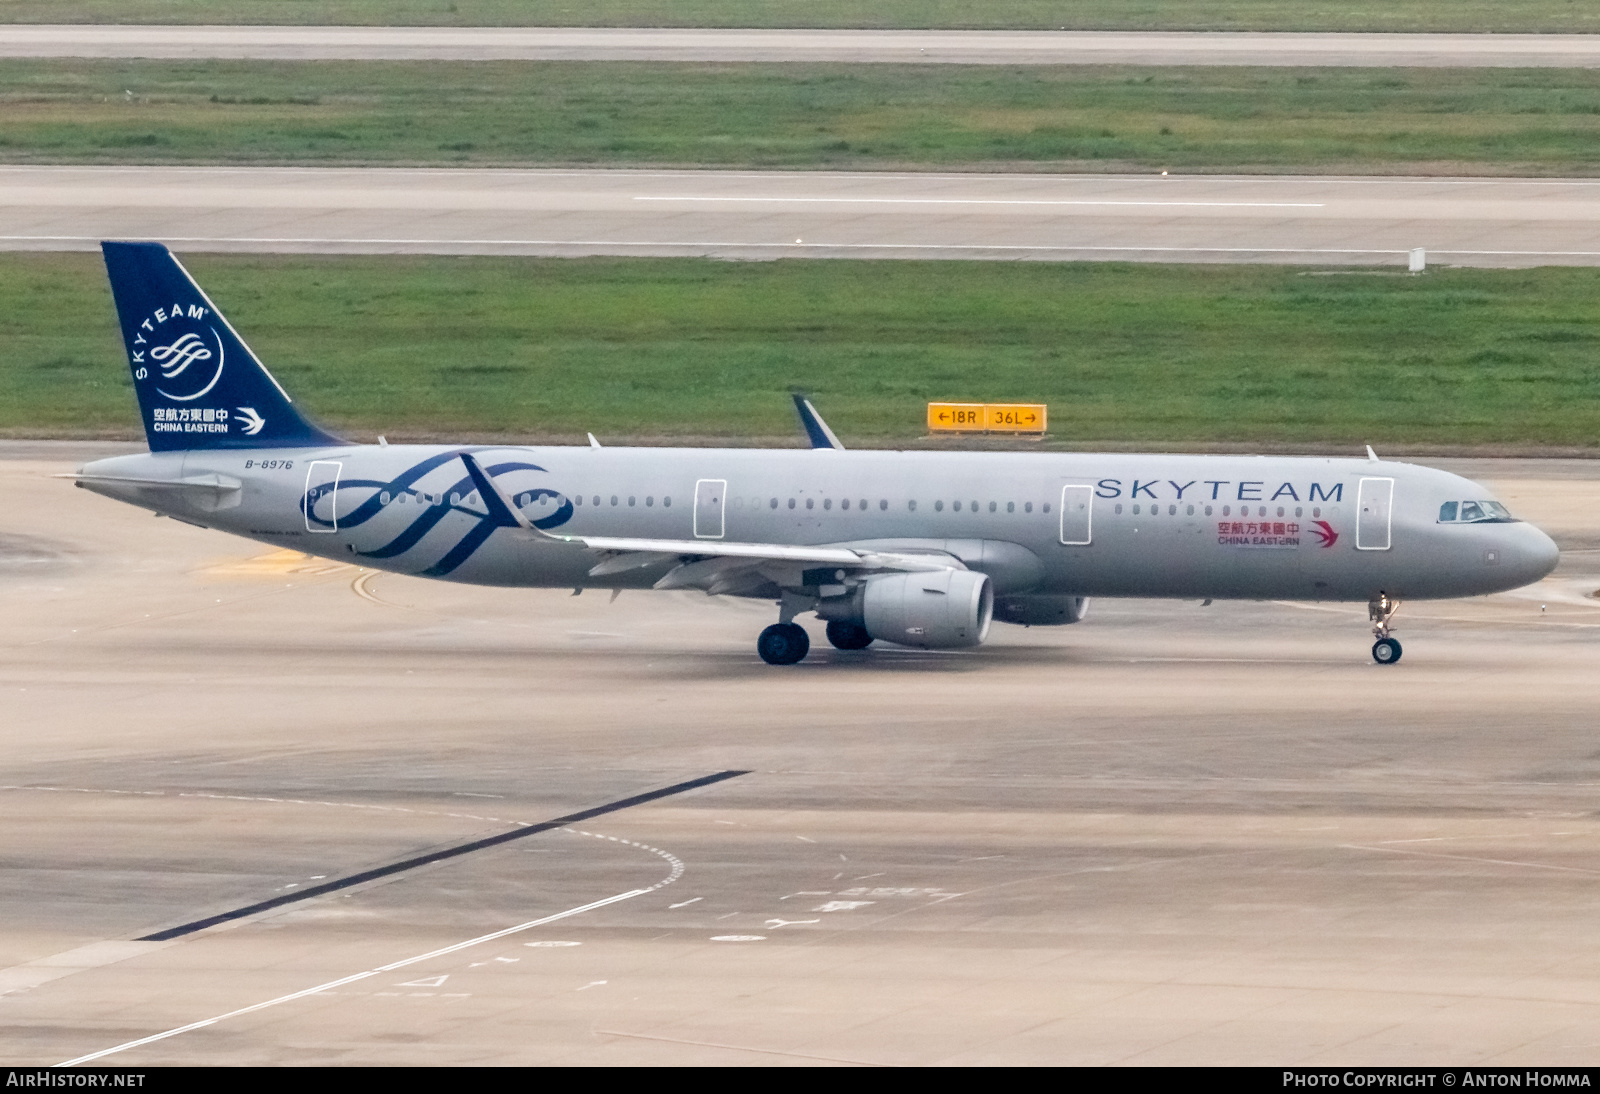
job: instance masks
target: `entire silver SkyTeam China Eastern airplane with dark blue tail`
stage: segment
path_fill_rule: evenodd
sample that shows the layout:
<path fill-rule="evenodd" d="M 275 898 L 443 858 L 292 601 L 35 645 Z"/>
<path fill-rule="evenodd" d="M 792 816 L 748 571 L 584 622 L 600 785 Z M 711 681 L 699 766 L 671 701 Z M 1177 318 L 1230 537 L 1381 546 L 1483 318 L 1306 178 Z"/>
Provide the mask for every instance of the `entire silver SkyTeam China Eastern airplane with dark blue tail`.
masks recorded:
<path fill-rule="evenodd" d="M 1366 601 L 1539 581 L 1555 544 L 1483 486 L 1366 457 L 811 448 L 357 445 L 304 417 L 160 243 L 102 243 L 149 453 L 77 485 L 360 566 L 502 587 L 698 589 L 773 601 L 757 653 L 981 645 L 1093 597 Z"/>

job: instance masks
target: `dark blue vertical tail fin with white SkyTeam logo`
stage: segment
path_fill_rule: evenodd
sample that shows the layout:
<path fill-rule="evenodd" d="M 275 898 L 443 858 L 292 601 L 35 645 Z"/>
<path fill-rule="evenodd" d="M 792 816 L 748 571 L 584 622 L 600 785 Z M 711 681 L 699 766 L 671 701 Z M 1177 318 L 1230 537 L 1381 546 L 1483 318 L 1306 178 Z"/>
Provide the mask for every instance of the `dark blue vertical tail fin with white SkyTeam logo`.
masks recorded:
<path fill-rule="evenodd" d="M 160 243 L 101 243 L 152 453 L 339 445 Z"/>

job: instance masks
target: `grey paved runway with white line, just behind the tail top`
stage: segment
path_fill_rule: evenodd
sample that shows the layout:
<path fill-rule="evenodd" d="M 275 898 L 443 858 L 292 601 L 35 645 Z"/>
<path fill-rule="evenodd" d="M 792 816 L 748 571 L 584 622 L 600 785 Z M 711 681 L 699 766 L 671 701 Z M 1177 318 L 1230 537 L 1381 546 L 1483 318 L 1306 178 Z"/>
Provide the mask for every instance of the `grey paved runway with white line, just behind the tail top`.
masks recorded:
<path fill-rule="evenodd" d="M 1600 262 L 1600 181 L 437 168 L 0 168 L 0 248 Z"/>

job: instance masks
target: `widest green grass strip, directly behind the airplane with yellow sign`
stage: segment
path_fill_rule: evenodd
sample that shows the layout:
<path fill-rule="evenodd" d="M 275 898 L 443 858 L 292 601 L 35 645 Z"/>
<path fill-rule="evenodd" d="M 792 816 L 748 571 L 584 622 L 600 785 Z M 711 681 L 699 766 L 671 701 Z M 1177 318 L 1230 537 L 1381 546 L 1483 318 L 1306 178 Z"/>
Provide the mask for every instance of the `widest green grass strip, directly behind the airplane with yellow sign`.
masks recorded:
<path fill-rule="evenodd" d="M 1600 443 L 1600 270 L 189 256 L 350 435 L 915 441 L 928 400 L 1050 403 L 1054 443 Z M 138 435 L 98 256 L 0 254 L 0 433 Z"/>

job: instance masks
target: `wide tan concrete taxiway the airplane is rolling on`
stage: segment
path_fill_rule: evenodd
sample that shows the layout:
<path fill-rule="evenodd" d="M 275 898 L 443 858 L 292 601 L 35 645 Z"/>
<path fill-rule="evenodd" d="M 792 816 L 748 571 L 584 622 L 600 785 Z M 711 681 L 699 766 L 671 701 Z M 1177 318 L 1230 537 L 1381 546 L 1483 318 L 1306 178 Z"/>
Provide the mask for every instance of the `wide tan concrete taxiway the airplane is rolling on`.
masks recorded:
<path fill-rule="evenodd" d="M 0 445 L 14 1065 L 1600 1062 L 1594 462 L 1448 464 L 1566 553 L 1395 667 L 1358 605 L 1096 601 L 771 669 L 770 605 L 51 478 L 114 448 Z"/>

